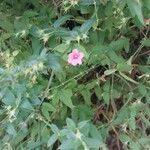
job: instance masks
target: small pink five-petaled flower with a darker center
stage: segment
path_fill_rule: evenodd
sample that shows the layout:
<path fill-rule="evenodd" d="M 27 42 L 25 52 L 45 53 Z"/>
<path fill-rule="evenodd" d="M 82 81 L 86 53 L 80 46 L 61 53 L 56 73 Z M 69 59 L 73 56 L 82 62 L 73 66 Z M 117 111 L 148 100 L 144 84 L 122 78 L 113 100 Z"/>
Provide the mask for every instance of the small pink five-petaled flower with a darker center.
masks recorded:
<path fill-rule="evenodd" d="M 79 52 L 77 49 L 73 49 L 72 52 L 68 55 L 68 63 L 76 66 L 77 64 L 81 65 L 84 58 L 84 53 Z"/>

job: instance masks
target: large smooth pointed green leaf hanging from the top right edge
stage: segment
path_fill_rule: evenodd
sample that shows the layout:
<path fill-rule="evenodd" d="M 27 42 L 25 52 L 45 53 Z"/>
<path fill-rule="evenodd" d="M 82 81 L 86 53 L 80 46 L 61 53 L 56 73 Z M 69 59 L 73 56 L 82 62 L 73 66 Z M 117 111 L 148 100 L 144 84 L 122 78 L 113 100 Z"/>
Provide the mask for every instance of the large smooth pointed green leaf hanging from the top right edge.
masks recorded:
<path fill-rule="evenodd" d="M 144 25 L 141 2 L 139 0 L 126 0 L 126 2 L 132 16 L 133 17 L 137 16 L 142 25 Z"/>

